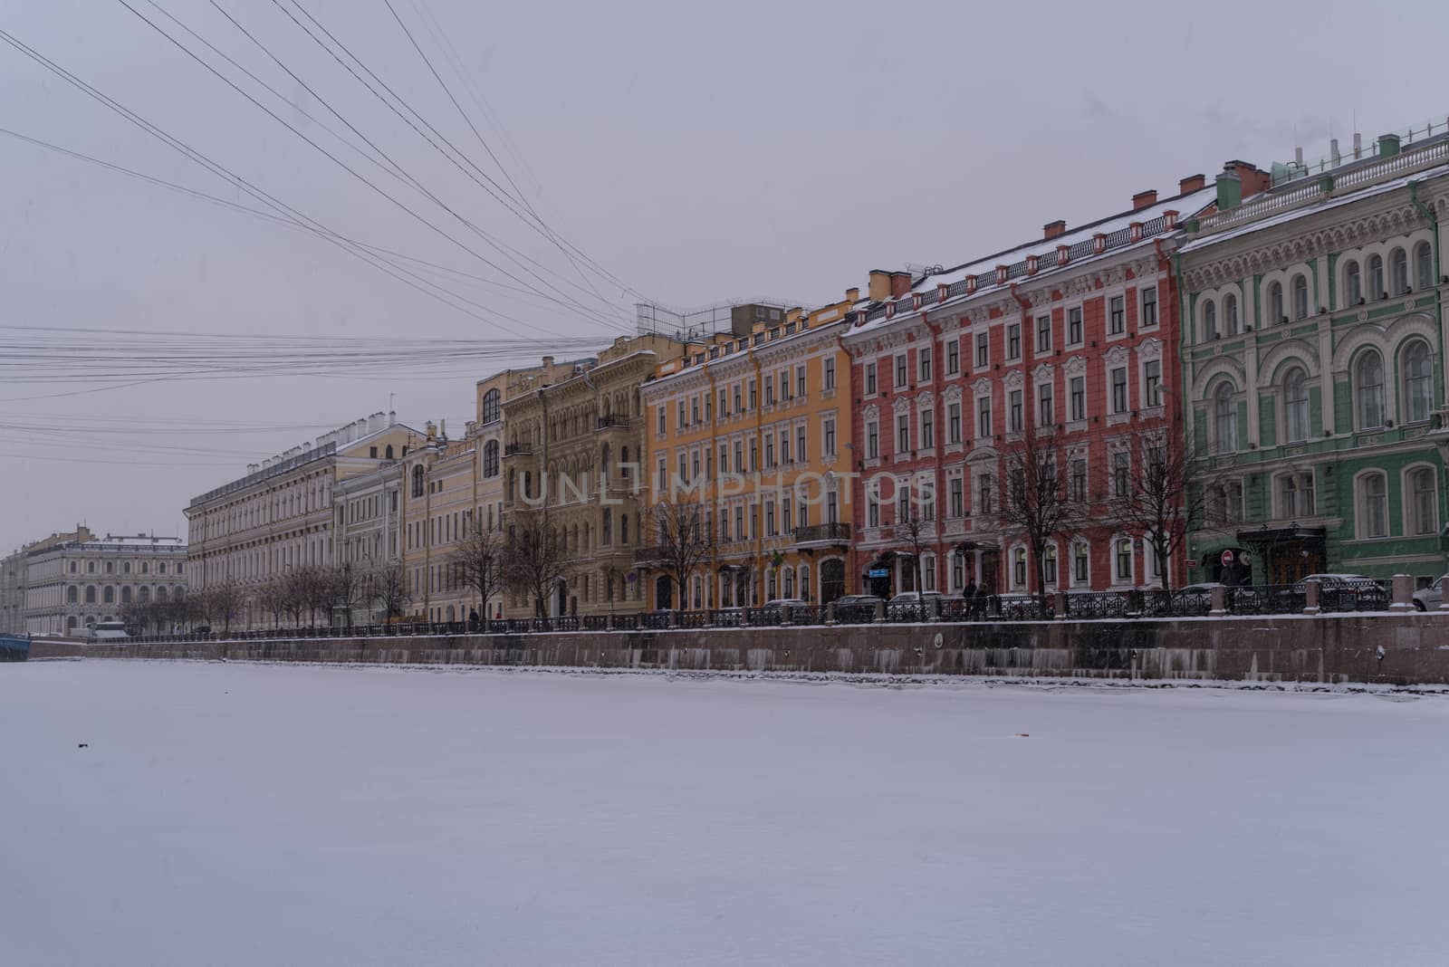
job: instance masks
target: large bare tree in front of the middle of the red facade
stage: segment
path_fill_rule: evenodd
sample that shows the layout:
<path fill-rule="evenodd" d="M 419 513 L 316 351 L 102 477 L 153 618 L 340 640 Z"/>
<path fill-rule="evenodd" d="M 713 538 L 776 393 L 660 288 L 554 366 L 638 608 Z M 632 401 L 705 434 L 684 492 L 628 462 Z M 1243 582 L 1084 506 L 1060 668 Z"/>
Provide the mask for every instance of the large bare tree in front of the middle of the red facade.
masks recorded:
<path fill-rule="evenodd" d="M 1006 456 L 1001 525 L 1019 531 L 1032 549 L 1037 594 L 1046 594 L 1046 546 L 1071 539 L 1088 518 L 1084 499 L 1068 492 L 1051 434 L 1027 430 L 1022 446 Z"/>

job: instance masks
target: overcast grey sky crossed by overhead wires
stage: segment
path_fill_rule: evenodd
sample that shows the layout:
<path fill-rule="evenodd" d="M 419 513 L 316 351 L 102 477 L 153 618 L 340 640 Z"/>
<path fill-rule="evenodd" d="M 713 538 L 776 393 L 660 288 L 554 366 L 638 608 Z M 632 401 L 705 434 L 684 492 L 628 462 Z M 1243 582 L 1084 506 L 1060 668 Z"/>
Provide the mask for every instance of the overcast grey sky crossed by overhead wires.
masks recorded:
<path fill-rule="evenodd" d="M 380 187 L 481 249 L 348 133 L 210 0 L 156 0 L 285 94 L 277 101 L 128 0 Z M 443 162 L 284 14 L 217 0 L 327 104 L 455 211 L 562 274 L 558 249 Z M 630 288 L 678 307 L 736 297 L 820 304 L 871 268 L 952 265 L 1175 191 L 1230 158 L 1261 165 L 1449 114 L 1449 7 L 1385 3 L 494 4 L 393 0 L 536 211 Z M 301 0 L 485 171 L 484 156 L 384 0 Z M 294 9 L 293 9 L 294 10 Z M 449 69 L 432 26 L 467 74 Z M 419 224 L 177 51 L 119 0 L 0 0 L 0 28 L 330 229 L 509 284 Z M 251 203 L 0 46 L 0 127 Z M 477 91 L 481 101 L 474 101 Z M 348 136 L 351 136 L 348 133 Z M 355 140 L 355 139 L 354 139 Z M 325 240 L 0 136 L 3 323 L 490 340 L 498 329 Z M 433 278 L 442 278 L 433 275 Z M 546 276 L 556 281 L 556 276 Z M 472 279 L 449 287 L 549 334 L 616 332 Z M 591 281 L 627 320 L 635 298 Z M 574 291 L 574 290 L 569 290 Z M 588 301 L 588 300 L 585 300 Z M 598 298 L 591 305 L 603 311 Z M 514 323 L 504 323 L 519 329 Z M 191 497 L 359 415 L 462 430 L 472 382 L 501 363 L 393 376 L 167 381 L 90 392 L 0 385 L 0 550 L 85 521 L 185 533 Z M 87 392 L 77 392 L 87 391 Z M 74 394 L 74 395 L 61 395 Z M 249 433 L 212 434 L 217 421 Z M 109 433 L 109 427 L 146 433 Z M 197 431 L 201 433 L 197 433 Z M 454 433 L 456 436 L 456 431 Z M 113 447 L 113 449 L 101 449 Z M 180 447 L 180 449 L 172 449 Z"/>

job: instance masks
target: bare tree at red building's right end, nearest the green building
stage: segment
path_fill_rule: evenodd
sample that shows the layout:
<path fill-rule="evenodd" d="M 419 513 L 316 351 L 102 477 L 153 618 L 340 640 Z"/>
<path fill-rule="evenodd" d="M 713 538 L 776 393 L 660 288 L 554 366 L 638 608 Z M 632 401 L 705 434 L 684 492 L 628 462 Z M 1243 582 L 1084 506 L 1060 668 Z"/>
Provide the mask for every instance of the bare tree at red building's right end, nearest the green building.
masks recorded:
<path fill-rule="evenodd" d="M 1120 528 L 1151 550 L 1162 589 L 1171 591 L 1171 562 L 1203 524 L 1207 488 L 1194 478 L 1193 446 L 1179 427 L 1143 440 L 1136 466 L 1114 472 L 1107 507 Z"/>

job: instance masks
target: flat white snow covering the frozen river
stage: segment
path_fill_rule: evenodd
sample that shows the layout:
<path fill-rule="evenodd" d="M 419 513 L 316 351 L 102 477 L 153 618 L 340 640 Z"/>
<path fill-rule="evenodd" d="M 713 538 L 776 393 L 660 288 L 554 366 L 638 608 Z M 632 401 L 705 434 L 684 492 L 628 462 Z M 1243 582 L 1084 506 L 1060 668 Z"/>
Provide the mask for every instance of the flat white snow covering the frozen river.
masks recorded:
<path fill-rule="evenodd" d="M 1437 695 L 30 662 L 0 735 L 0 964 L 1449 950 Z"/>

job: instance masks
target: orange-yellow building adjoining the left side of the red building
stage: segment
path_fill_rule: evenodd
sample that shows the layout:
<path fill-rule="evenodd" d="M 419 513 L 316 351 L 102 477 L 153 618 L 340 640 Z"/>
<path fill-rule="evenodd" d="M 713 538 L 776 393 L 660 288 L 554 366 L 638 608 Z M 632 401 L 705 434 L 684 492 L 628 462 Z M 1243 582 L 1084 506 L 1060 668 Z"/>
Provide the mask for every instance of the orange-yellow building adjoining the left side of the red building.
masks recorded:
<path fill-rule="evenodd" d="M 845 594 L 851 559 L 851 366 L 858 300 L 736 323 L 645 384 L 646 504 L 698 501 L 709 563 L 675 599 L 652 539 L 638 554 L 651 608 L 709 609 Z M 703 482 L 703 486 L 698 486 Z"/>

